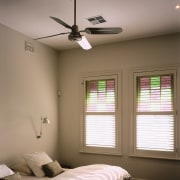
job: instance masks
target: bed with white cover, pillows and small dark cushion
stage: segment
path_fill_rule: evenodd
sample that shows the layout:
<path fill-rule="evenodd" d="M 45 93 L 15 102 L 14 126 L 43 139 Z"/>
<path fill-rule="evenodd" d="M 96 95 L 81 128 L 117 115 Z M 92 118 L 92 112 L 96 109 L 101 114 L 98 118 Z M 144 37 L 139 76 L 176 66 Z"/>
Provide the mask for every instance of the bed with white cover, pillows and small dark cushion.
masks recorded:
<path fill-rule="evenodd" d="M 0 165 L 0 180 L 129 180 L 130 174 L 119 166 L 91 164 L 63 168 L 45 152 L 25 154 L 10 167 Z"/>

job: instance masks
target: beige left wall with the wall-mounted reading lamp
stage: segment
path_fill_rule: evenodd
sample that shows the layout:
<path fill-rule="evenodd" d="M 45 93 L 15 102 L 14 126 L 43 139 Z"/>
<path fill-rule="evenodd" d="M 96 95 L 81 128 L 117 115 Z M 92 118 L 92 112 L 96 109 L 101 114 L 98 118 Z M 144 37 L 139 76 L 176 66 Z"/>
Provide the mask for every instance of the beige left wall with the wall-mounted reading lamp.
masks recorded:
<path fill-rule="evenodd" d="M 57 52 L 0 25 L 0 163 L 33 151 L 57 158 L 57 63 Z M 41 115 L 51 124 L 37 139 Z"/>

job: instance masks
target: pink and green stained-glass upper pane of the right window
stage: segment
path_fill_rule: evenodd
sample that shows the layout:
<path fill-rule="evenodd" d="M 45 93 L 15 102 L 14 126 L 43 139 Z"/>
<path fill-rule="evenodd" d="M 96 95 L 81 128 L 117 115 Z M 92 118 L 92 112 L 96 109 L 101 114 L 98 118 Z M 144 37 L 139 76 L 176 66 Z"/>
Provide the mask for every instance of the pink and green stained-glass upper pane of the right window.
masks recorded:
<path fill-rule="evenodd" d="M 137 78 L 137 111 L 172 111 L 172 75 Z"/>

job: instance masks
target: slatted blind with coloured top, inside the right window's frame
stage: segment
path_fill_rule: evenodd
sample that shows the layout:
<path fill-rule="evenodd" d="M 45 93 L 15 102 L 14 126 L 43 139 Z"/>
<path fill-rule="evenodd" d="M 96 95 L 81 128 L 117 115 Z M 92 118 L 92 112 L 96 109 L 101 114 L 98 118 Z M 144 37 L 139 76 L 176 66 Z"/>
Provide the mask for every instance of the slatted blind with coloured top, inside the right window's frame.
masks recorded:
<path fill-rule="evenodd" d="M 173 74 L 136 77 L 136 149 L 174 152 Z"/>

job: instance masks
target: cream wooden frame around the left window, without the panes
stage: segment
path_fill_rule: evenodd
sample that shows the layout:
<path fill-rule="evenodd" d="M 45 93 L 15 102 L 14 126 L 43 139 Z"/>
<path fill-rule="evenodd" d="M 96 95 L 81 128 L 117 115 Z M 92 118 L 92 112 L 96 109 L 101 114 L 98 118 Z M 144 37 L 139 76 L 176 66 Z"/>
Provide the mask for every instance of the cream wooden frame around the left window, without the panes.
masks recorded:
<path fill-rule="evenodd" d="M 102 80 L 102 79 L 112 79 L 115 78 L 115 124 L 116 124 L 116 145 L 115 148 L 107 148 L 107 147 L 90 147 L 86 146 L 85 137 L 85 101 L 86 101 L 86 81 L 90 80 Z M 120 89 L 120 90 L 119 90 Z M 119 101 L 119 97 L 121 97 L 121 73 L 120 72 L 95 72 L 95 73 L 87 73 L 81 75 L 81 142 L 80 142 L 80 152 L 81 153 L 93 153 L 93 154 L 105 154 L 105 155 L 122 155 L 122 126 L 121 125 L 121 102 Z M 102 113 L 103 114 L 103 113 Z M 106 113 L 104 113 L 106 114 Z"/>

